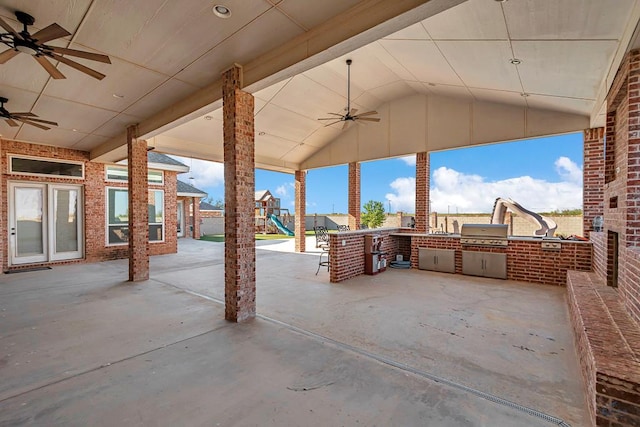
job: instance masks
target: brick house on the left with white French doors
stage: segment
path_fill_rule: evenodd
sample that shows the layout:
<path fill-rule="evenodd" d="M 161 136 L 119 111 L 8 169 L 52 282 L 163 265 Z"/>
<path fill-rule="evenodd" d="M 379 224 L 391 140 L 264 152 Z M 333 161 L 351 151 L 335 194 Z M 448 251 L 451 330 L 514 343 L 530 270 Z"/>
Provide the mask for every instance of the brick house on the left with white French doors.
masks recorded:
<path fill-rule="evenodd" d="M 7 195 L 0 232 L 9 236 L 3 271 L 128 257 L 126 162 L 91 162 L 85 151 L 9 140 L 2 140 L 0 155 Z M 191 186 L 179 191 L 177 175 L 188 166 L 155 152 L 147 158 L 149 253 L 175 253 L 178 206 L 206 194 Z"/>

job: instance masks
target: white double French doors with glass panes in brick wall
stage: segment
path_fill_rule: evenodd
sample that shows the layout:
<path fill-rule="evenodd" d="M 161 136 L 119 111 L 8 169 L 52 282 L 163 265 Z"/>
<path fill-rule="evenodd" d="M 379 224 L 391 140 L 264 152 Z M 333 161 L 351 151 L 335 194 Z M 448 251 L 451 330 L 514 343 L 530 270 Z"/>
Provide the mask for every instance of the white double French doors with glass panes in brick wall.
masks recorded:
<path fill-rule="evenodd" d="M 10 264 L 82 258 L 82 187 L 9 183 Z"/>

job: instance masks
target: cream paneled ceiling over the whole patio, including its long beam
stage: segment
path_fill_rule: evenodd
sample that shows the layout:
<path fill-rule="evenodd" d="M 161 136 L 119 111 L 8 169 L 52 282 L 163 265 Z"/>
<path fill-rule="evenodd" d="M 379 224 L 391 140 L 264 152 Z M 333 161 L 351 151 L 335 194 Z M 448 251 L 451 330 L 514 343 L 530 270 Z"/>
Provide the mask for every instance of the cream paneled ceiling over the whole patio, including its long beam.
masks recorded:
<path fill-rule="evenodd" d="M 0 121 L 0 134 L 116 161 L 126 156 L 124 129 L 138 123 L 160 152 L 221 161 L 220 74 L 238 63 L 245 90 L 256 98 L 257 164 L 292 171 L 358 131 L 317 120 L 346 107 L 347 58 L 352 107 L 379 110 L 382 121 L 402 122 L 385 111 L 422 96 L 431 104 L 468 103 L 472 111 L 481 103 L 582 118 L 554 128 L 579 130 L 572 128 L 603 124 L 604 96 L 635 46 L 640 18 L 638 0 L 218 3 L 231 10 L 229 18 L 212 12 L 216 2 L 201 0 L 147 0 L 144 7 L 125 0 L 0 1 L 0 16 L 16 31 L 19 9 L 36 18 L 33 31 L 57 22 L 72 33 L 52 45 L 103 53 L 112 62 L 78 59 L 106 74 L 102 81 L 65 64 L 56 65 L 67 78 L 54 80 L 22 53 L 1 64 L 5 107 L 59 126 L 43 131 Z M 379 125 L 363 126 L 375 132 Z M 508 135 L 493 138 L 501 134 Z M 437 148 L 447 148 L 447 135 L 439 137 Z"/>

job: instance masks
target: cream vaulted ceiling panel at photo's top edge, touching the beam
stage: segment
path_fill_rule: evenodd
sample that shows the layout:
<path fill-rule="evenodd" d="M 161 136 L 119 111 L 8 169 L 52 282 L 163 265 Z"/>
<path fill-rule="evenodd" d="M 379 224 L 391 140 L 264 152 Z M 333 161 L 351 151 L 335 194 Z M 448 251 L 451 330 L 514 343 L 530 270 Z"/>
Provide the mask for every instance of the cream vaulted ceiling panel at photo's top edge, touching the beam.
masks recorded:
<path fill-rule="evenodd" d="M 467 1 L 425 20 L 424 26 L 434 40 L 507 40 L 502 5 L 511 3 L 526 2 Z"/>

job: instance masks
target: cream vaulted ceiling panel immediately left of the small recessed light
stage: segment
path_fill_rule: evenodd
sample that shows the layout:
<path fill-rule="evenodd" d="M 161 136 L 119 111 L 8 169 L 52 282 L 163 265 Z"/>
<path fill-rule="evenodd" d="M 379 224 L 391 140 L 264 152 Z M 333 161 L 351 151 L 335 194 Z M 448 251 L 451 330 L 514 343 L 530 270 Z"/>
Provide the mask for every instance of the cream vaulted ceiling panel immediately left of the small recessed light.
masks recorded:
<path fill-rule="evenodd" d="M 465 86 L 521 90 L 506 41 L 440 41 L 438 47 Z M 480 65 L 481 64 L 481 65 Z"/>

